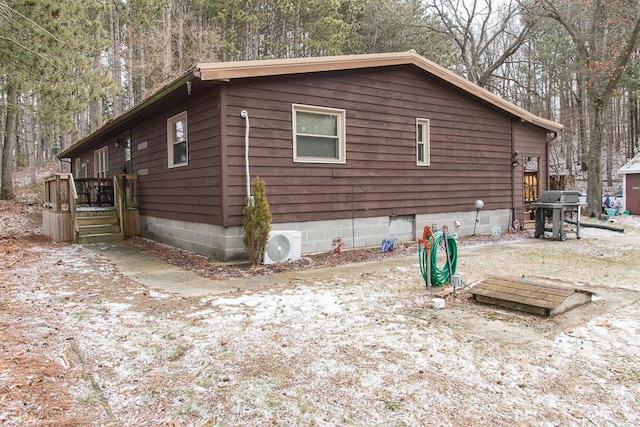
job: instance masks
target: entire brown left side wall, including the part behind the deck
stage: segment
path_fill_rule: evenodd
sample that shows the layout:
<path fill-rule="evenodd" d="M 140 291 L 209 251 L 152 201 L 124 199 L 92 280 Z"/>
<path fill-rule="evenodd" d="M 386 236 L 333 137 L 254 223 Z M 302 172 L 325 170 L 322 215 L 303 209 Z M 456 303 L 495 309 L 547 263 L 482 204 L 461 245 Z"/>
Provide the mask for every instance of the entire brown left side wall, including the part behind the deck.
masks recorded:
<path fill-rule="evenodd" d="M 122 173 L 124 147 L 115 147 L 123 133 L 131 132 L 132 170 L 138 174 L 137 198 L 142 217 L 162 218 L 194 224 L 221 225 L 222 218 L 222 167 L 220 144 L 220 97 L 216 87 L 200 92 L 198 96 L 178 97 L 179 102 L 166 102 L 167 108 L 147 114 L 109 132 L 91 144 L 77 150 L 71 157 L 75 168 L 80 158 L 79 171 L 74 176 L 96 176 L 94 152 L 103 147 L 108 150 L 109 176 Z M 189 162 L 184 167 L 168 167 L 167 119 L 187 111 Z M 158 231 L 144 229 L 143 235 Z M 177 228 L 178 230 L 180 227 Z M 166 226 L 160 230 L 167 230 Z M 178 231 L 177 231 L 178 232 Z"/>

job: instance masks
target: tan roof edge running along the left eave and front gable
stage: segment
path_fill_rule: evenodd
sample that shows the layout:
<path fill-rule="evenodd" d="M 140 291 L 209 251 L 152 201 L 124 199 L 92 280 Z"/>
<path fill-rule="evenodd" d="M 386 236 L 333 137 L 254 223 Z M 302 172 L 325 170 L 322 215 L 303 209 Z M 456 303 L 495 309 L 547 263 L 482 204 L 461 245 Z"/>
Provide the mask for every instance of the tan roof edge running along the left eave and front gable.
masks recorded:
<path fill-rule="evenodd" d="M 293 75 L 304 73 L 315 73 L 322 71 L 354 70 L 364 68 L 386 67 L 394 65 L 414 65 L 427 73 L 430 73 L 445 82 L 458 87 L 464 92 L 479 98 L 496 108 L 505 111 L 524 122 L 531 123 L 550 132 L 561 132 L 563 125 L 548 120 L 518 107 L 515 104 L 489 92 L 488 90 L 460 77 L 454 72 L 432 62 L 415 51 L 376 53 L 364 55 L 340 55 L 323 56 L 313 58 L 291 58 L 291 59 L 265 59 L 254 61 L 237 62 L 207 62 L 197 64 L 187 73 L 171 81 L 163 88 L 153 93 L 149 98 L 142 101 L 129 111 L 115 117 L 102 127 L 82 138 L 71 147 L 64 150 L 59 158 L 68 157 L 76 148 L 84 145 L 89 140 L 100 137 L 113 130 L 121 123 L 127 122 L 143 114 L 143 112 L 165 99 L 178 88 L 185 84 L 190 85 L 193 81 L 227 82 L 233 79 L 243 79 L 250 77 L 265 77 L 278 75 Z M 188 86 L 190 87 L 190 86 Z M 190 90 L 190 89 L 189 89 Z"/>

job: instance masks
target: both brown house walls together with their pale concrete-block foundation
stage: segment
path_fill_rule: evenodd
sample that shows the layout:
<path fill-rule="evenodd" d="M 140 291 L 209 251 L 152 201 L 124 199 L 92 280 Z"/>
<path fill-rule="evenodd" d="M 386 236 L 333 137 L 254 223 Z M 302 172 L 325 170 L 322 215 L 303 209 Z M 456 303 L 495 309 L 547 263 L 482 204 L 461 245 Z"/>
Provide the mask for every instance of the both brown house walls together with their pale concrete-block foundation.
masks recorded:
<path fill-rule="evenodd" d="M 93 152 L 108 144 L 110 174 L 119 173 L 124 154 L 114 143 L 131 130 L 143 235 L 219 259 L 245 256 L 242 110 L 251 123 L 251 177 L 267 184 L 273 229 L 302 231 L 303 253 L 330 250 L 336 237 L 346 247 L 415 240 L 433 224 L 460 235 L 506 230 L 522 201 L 514 147 L 546 165 L 544 130 L 409 65 L 217 84 L 78 152 L 94 176 Z M 292 104 L 346 111 L 345 164 L 293 161 Z M 169 168 L 166 121 L 182 111 L 189 164 Z M 416 165 L 418 118 L 430 120 L 430 166 Z M 485 203 L 478 222 L 476 199 Z"/>

